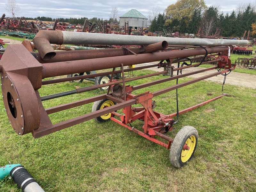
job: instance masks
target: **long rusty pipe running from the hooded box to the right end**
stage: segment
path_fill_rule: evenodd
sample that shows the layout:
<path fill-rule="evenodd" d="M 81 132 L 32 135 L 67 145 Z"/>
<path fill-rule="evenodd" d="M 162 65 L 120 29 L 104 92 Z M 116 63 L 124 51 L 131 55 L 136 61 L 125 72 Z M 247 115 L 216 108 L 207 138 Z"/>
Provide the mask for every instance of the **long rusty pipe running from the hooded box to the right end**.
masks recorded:
<path fill-rule="evenodd" d="M 225 52 L 228 51 L 228 46 L 221 47 L 208 47 L 206 48 L 208 53 Z M 205 54 L 205 50 L 202 48 L 191 49 L 191 50 L 178 50 L 170 52 L 156 52 L 156 53 L 145 53 L 140 55 L 126 55 L 117 56 L 110 58 L 98 58 L 98 59 L 87 59 L 87 60 L 76 60 L 68 62 L 56 62 L 44 63 L 42 78 L 54 77 L 61 75 L 68 75 L 73 73 L 81 73 L 84 71 L 94 71 L 100 69 L 116 68 L 120 67 L 121 63 L 124 66 L 131 64 L 140 64 L 146 62 L 153 62 L 159 60 L 167 60 L 170 58 L 182 58 L 190 57 L 194 55 Z"/>

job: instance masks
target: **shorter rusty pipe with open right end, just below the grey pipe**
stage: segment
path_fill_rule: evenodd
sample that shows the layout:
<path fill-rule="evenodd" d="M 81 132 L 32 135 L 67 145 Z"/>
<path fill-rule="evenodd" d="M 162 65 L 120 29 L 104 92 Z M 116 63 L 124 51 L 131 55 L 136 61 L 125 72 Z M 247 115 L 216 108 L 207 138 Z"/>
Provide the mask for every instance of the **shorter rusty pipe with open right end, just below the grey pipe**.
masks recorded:
<path fill-rule="evenodd" d="M 71 61 L 71 60 L 83 60 L 83 59 L 95 59 L 103 57 L 115 57 L 122 55 L 133 55 L 140 53 L 150 53 L 160 50 L 164 50 L 168 47 L 166 41 L 161 41 L 155 44 L 150 44 L 142 47 L 122 47 L 116 49 L 97 49 L 97 50 L 76 50 L 76 51 L 61 51 L 56 52 L 56 56 L 50 60 L 43 60 L 38 52 L 32 53 L 36 60 L 40 63 L 53 63 L 60 61 Z"/>

